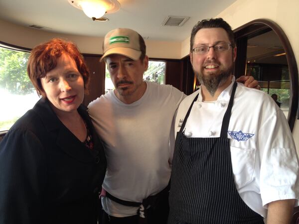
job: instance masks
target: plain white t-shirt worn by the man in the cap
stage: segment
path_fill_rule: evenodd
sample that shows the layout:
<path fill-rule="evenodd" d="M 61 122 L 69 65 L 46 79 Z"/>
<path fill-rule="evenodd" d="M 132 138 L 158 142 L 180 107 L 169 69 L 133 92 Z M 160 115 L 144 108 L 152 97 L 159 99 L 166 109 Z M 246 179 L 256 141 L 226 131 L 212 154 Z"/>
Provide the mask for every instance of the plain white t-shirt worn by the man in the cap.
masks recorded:
<path fill-rule="evenodd" d="M 145 94 L 132 104 L 124 104 L 110 91 L 88 106 L 97 133 L 104 140 L 107 173 L 103 188 L 125 201 L 142 202 L 167 186 L 173 116 L 185 97 L 170 85 L 146 83 Z M 102 204 L 105 212 L 115 217 L 133 216 L 138 210 L 107 197 Z"/>

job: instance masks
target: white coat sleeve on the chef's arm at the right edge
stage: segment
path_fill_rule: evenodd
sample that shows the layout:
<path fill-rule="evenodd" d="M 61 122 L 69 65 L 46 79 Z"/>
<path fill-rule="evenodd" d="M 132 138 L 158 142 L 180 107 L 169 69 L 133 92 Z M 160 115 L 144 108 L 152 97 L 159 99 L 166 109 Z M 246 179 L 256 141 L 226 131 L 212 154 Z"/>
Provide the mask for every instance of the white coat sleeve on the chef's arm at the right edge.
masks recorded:
<path fill-rule="evenodd" d="M 268 116 L 259 129 L 260 190 L 263 206 L 277 200 L 297 199 L 299 161 L 289 124 L 281 110 Z"/>

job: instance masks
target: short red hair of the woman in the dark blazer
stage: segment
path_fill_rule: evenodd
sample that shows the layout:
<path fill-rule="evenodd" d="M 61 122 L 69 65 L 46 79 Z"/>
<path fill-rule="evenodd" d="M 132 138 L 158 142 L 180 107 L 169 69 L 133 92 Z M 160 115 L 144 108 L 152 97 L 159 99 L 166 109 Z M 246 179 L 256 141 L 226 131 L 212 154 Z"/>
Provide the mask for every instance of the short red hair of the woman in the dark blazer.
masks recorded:
<path fill-rule="evenodd" d="M 40 79 L 56 67 L 57 60 L 62 53 L 66 53 L 74 59 L 78 71 L 83 76 L 84 90 L 87 92 L 89 71 L 77 46 L 71 41 L 53 38 L 34 47 L 29 55 L 27 73 L 38 96 L 46 97 Z"/>

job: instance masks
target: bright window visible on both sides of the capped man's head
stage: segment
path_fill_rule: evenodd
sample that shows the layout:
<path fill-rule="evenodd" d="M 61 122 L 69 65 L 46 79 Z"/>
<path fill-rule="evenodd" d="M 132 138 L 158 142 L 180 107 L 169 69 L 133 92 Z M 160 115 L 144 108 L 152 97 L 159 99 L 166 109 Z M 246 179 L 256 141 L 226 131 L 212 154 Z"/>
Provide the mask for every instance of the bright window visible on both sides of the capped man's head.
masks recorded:
<path fill-rule="evenodd" d="M 165 61 L 149 61 L 149 68 L 144 73 L 144 80 L 155 82 L 158 84 L 165 83 Z M 111 81 L 109 71 L 106 67 L 105 75 L 105 93 L 114 89 L 114 85 Z"/>

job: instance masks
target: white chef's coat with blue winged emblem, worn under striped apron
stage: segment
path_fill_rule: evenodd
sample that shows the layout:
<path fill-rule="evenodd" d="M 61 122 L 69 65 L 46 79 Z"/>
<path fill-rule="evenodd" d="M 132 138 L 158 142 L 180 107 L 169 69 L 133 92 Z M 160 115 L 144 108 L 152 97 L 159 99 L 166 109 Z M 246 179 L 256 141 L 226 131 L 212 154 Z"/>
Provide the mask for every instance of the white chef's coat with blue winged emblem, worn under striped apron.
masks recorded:
<path fill-rule="evenodd" d="M 175 117 L 175 134 L 194 102 L 185 125 L 187 137 L 219 137 L 234 79 L 214 102 L 203 102 L 201 90 L 186 97 Z M 227 137 L 232 168 L 242 200 L 263 217 L 267 204 L 297 199 L 299 162 L 295 143 L 284 113 L 262 91 L 238 83 Z"/>

